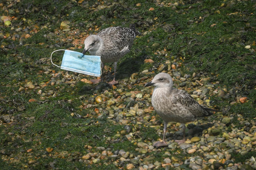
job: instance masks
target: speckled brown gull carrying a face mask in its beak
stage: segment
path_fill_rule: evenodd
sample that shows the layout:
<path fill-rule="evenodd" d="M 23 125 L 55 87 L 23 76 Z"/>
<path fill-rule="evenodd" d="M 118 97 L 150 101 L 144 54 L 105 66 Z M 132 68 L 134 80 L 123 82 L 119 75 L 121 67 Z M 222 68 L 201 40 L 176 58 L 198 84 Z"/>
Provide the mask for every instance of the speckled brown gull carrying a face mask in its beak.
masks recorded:
<path fill-rule="evenodd" d="M 114 79 L 108 84 L 117 84 L 118 82 L 115 80 L 117 61 L 131 50 L 133 40 L 139 33 L 135 30 L 134 24 L 130 28 L 109 27 L 103 29 L 97 35 L 90 35 L 85 39 L 85 48 L 82 53 L 85 54 L 89 51 L 91 55 L 101 56 L 101 70 L 104 68 L 104 63 L 114 62 Z M 101 79 L 91 81 L 95 84 Z"/>

